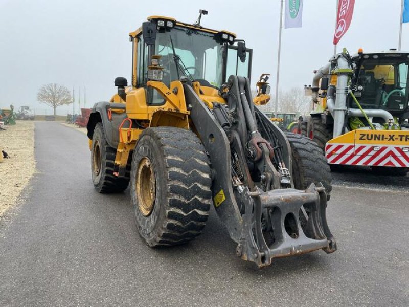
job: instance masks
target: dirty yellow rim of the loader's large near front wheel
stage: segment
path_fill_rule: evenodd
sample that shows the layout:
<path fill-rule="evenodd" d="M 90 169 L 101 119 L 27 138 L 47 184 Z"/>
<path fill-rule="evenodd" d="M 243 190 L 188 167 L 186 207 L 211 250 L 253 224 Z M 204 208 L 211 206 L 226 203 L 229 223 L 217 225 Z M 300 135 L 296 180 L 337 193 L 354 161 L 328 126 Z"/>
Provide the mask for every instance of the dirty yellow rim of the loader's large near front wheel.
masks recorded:
<path fill-rule="evenodd" d="M 148 216 L 152 213 L 156 194 L 155 172 L 148 157 L 139 162 L 136 179 L 139 210 L 144 216 Z"/>

